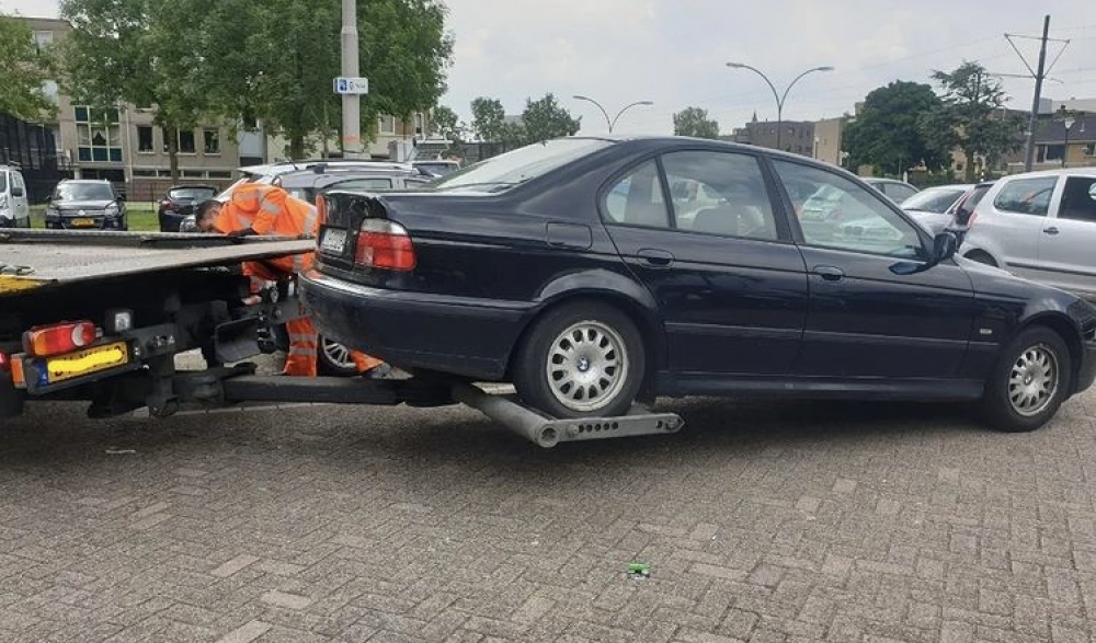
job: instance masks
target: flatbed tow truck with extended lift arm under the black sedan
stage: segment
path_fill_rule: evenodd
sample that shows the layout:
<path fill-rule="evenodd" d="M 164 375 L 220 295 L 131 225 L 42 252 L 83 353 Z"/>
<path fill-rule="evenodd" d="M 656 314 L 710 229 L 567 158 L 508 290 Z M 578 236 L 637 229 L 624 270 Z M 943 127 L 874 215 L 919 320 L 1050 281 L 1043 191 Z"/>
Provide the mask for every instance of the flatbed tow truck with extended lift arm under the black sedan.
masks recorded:
<path fill-rule="evenodd" d="M 167 417 L 235 405 L 463 403 L 545 448 L 683 425 L 676 414 L 641 405 L 617 417 L 550 417 L 441 374 L 259 375 L 250 359 L 273 349 L 270 330 L 307 311 L 292 283 L 244 303 L 250 284 L 237 268 L 315 246 L 309 238 L 0 231 L 0 427 L 26 404 L 50 400 L 88 402 L 91 417 L 139 409 Z M 202 352 L 206 367 L 178 369 L 175 356 L 191 351 Z"/>

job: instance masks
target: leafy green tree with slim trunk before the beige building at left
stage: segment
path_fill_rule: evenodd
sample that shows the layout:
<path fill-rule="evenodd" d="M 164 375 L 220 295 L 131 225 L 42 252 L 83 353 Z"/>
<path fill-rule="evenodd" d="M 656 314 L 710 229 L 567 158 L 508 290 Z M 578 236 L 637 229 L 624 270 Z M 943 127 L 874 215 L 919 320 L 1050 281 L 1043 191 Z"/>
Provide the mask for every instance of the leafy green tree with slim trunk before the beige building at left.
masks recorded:
<path fill-rule="evenodd" d="M 155 108 L 165 135 L 171 176 L 179 179 L 178 131 L 197 126 L 210 102 L 205 58 L 179 25 L 205 15 L 216 0 L 61 0 L 72 24 L 64 43 L 75 102 Z"/>

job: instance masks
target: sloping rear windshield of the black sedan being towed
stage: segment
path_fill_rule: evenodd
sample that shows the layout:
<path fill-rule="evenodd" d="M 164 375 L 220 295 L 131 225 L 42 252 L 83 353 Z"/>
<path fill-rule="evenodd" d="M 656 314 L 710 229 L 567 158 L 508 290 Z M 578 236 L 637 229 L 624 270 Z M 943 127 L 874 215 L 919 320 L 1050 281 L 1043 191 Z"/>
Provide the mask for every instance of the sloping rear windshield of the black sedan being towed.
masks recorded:
<path fill-rule="evenodd" d="M 593 138 L 560 138 L 533 143 L 452 172 L 430 185 L 436 190 L 498 192 L 541 176 L 610 145 L 613 141 Z"/>

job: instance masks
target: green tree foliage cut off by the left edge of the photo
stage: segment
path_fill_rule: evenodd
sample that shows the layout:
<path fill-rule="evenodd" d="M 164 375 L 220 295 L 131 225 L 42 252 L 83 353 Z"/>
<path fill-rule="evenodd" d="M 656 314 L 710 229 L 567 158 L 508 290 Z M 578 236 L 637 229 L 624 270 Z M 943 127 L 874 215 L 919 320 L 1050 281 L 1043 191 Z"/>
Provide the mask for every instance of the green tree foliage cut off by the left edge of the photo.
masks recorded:
<path fill-rule="evenodd" d="M 42 92 L 49 78 L 50 57 L 38 50 L 31 28 L 0 14 L 0 114 L 37 122 L 55 105 Z"/>

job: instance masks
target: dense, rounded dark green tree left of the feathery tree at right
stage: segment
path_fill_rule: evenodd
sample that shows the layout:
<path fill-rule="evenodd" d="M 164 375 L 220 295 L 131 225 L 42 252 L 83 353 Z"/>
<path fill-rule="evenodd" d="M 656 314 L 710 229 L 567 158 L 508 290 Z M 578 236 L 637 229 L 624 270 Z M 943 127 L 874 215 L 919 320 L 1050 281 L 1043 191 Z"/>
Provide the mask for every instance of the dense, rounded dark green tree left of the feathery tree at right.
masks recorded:
<path fill-rule="evenodd" d="M 895 81 L 874 90 L 843 134 L 852 167 L 874 165 L 901 174 L 924 162 L 928 170 L 939 170 L 948 160 L 948 149 L 931 141 L 921 122 L 941 104 L 927 84 Z"/>

